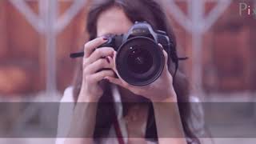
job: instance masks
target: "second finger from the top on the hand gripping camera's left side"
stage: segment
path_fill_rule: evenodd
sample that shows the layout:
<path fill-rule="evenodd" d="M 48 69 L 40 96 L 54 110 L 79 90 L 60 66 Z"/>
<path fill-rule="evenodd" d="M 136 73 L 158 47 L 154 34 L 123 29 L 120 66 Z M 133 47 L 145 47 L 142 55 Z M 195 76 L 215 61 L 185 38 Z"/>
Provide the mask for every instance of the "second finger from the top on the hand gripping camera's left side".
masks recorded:
<path fill-rule="evenodd" d="M 90 64 L 92 62 L 95 62 L 98 60 L 98 58 L 105 58 L 107 56 L 112 56 L 114 55 L 114 49 L 111 47 L 101 47 L 98 48 L 96 50 L 94 50 L 94 52 L 92 52 L 92 54 L 90 54 L 90 56 L 86 59 L 86 63 Z"/>

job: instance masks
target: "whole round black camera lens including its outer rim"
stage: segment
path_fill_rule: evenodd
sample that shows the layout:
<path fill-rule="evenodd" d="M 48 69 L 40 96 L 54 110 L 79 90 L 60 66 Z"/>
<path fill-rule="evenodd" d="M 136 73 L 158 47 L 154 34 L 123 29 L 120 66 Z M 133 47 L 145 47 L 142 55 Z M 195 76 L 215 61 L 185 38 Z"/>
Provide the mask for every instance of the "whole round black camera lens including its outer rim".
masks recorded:
<path fill-rule="evenodd" d="M 162 50 L 153 39 L 137 36 L 122 43 L 115 62 L 124 81 L 134 86 L 146 86 L 159 78 L 165 61 Z"/>

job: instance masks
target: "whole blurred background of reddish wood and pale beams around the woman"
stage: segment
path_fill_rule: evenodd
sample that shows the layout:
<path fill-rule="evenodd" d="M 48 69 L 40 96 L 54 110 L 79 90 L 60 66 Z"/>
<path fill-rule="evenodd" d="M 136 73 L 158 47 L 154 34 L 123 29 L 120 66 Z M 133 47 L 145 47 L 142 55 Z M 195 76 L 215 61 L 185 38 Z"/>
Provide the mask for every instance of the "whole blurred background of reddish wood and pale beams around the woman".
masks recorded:
<path fill-rule="evenodd" d="M 92 1 L 0 0 L 1 102 L 58 102 L 62 98 L 74 74 L 75 61 L 69 54 L 78 51 L 87 40 L 86 13 Z M 251 102 L 224 115 L 215 109 L 207 111 L 204 121 L 230 118 L 237 126 L 230 133 L 245 129 L 245 122 L 255 124 L 256 0 L 157 1 L 164 6 L 174 28 L 178 54 L 189 57 L 181 63 L 181 69 L 190 79 L 191 95 L 201 102 Z M 0 134 L 29 128 L 30 119 L 38 125 L 45 122 L 41 119 L 45 112 L 40 107 L 34 109 L 24 103 L 1 107 Z M 33 128 L 30 130 L 34 132 Z M 246 130 L 256 129 L 249 126 Z M 0 140 L 10 142 L 13 140 Z M 210 142 L 256 140 L 214 138 L 205 143 Z"/>

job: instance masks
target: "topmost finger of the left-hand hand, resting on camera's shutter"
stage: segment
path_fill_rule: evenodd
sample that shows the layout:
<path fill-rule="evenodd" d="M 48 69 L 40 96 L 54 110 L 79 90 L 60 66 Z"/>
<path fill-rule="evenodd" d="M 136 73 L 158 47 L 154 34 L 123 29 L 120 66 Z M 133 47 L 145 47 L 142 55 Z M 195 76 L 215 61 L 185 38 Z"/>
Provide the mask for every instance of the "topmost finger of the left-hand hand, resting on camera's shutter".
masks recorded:
<path fill-rule="evenodd" d="M 95 48 L 101 46 L 103 43 L 107 42 L 107 38 L 100 37 L 87 42 L 84 46 L 84 58 L 88 58 Z"/>

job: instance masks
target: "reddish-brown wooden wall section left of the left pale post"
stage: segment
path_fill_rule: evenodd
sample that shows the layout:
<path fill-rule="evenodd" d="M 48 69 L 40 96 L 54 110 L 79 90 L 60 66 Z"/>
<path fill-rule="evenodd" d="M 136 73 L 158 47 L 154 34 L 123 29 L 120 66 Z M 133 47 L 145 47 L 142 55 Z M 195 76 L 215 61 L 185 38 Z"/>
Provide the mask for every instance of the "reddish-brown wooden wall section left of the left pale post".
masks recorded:
<path fill-rule="evenodd" d="M 2 2 L 2 1 L 1 1 Z M 6 58 L 0 66 L 0 94 L 28 94 L 34 92 L 34 85 L 38 82 L 38 34 L 8 1 L 4 1 L 0 10 L 5 10 L 6 26 L 5 43 Z M 32 8 L 37 7 L 32 3 Z M 0 13 L 2 14 L 2 13 Z M 36 75 L 36 76 L 35 76 Z"/>

